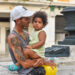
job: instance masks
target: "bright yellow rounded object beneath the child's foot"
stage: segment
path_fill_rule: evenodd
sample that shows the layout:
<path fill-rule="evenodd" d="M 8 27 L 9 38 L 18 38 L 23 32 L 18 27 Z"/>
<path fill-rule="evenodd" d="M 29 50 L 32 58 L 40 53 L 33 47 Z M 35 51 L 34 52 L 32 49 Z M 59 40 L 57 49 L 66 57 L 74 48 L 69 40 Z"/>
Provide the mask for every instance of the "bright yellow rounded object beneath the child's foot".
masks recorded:
<path fill-rule="evenodd" d="M 52 69 L 51 66 L 48 65 L 42 65 L 42 67 L 44 67 L 46 74 L 45 75 L 56 75 L 57 72 L 57 68 L 53 67 L 54 69 Z"/>

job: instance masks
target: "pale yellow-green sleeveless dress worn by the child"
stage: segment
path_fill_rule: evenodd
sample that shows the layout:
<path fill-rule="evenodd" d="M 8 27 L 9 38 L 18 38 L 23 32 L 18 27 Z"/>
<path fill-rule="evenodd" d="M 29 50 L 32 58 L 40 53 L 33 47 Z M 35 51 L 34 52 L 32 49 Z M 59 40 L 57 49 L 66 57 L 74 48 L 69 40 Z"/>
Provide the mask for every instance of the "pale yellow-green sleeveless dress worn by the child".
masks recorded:
<path fill-rule="evenodd" d="M 43 30 L 39 30 L 39 31 L 33 30 L 32 31 L 32 33 L 30 34 L 30 42 L 29 42 L 30 45 L 33 45 L 39 41 L 38 35 L 41 31 L 43 31 Z M 43 39 L 43 37 L 42 37 L 42 39 Z M 44 56 L 44 52 L 45 52 L 44 45 L 39 48 L 33 49 L 33 51 L 35 51 L 40 57 L 45 57 Z"/>

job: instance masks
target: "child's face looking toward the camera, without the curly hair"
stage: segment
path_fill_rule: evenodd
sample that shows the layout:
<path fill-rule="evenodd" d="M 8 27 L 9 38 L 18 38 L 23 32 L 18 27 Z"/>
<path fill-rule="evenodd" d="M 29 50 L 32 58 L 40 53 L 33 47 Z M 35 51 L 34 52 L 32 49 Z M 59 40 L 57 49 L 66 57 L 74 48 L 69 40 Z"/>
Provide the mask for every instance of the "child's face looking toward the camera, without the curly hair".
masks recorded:
<path fill-rule="evenodd" d="M 42 29 L 43 28 L 43 21 L 42 21 L 42 19 L 41 18 L 39 18 L 39 17 L 36 17 L 35 19 L 34 19 L 34 21 L 33 21 L 33 27 L 34 27 L 34 29 L 35 30 L 40 30 L 40 29 Z"/>

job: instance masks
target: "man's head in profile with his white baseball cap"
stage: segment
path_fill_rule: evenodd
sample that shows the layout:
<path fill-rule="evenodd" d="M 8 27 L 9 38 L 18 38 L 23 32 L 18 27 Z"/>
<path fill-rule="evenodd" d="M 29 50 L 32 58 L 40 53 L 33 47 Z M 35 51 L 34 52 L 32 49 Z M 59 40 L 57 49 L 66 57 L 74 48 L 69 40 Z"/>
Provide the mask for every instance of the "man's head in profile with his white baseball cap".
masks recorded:
<path fill-rule="evenodd" d="M 34 11 L 30 11 L 23 6 L 16 6 L 11 11 L 11 19 L 19 25 L 27 26 L 30 22 L 30 17 L 34 14 Z"/>

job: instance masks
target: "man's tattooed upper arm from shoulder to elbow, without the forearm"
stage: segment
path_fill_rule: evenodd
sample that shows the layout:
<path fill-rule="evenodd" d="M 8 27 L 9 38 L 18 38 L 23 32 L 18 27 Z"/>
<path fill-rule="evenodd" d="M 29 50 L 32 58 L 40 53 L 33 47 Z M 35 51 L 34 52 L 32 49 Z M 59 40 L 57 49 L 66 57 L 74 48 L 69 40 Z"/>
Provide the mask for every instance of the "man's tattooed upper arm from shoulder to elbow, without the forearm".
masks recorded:
<path fill-rule="evenodd" d="M 12 49 L 16 60 L 19 63 L 24 62 L 25 56 L 23 54 L 21 43 L 20 43 L 19 39 L 16 36 L 11 36 L 11 37 L 9 36 L 8 44 L 9 44 L 10 48 Z"/>

